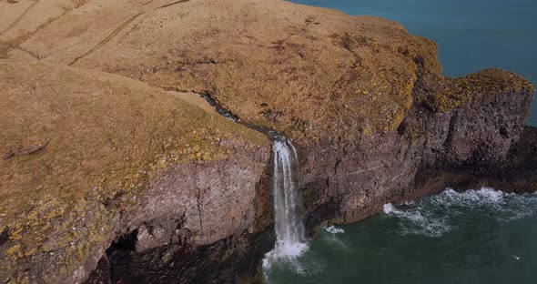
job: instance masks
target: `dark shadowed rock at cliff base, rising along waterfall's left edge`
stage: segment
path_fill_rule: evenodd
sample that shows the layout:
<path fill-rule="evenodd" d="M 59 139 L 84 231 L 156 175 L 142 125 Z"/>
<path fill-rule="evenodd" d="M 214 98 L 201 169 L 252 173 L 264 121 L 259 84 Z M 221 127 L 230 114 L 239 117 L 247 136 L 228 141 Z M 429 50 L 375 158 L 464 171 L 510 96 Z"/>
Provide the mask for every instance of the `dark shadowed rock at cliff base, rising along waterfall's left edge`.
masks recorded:
<path fill-rule="evenodd" d="M 169 242 L 147 246 L 166 225 L 157 221 L 143 225 L 137 232 L 136 249 L 132 247 L 133 232 L 120 238 L 127 242 L 115 242 L 106 251 L 112 283 L 263 283 L 260 259 L 273 248 L 276 238 L 269 197 L 271 168 L 267 164 L 256 186 L 255 212 L 248 217 L 255 219 L 254 228 L 198 246 L 188 241 L 188 233 L 180 225 L 185 218 L 179 218 Z M 150 236 L 142 237 L 145 231 Z"/>

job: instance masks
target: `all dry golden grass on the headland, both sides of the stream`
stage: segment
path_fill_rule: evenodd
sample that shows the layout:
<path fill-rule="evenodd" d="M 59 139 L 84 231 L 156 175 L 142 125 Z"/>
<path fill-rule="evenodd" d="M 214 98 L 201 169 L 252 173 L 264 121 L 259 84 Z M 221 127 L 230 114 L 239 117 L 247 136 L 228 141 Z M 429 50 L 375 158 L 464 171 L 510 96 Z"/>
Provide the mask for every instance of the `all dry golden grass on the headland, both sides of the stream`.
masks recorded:
<path fill-rule="evenodd" d="M 442 77 L 436 44 L 397 23 L 279 0 L 0 0 L 0 58 L 0 279 L 15 282 L 41 263 L 59 265 L 35 269 L 45 281 L 73 275 L 170 165 L 269 145 L 191 92 L 307 147 L 392 131 L 413 99 L 449 111 L 532 89 Z"/>

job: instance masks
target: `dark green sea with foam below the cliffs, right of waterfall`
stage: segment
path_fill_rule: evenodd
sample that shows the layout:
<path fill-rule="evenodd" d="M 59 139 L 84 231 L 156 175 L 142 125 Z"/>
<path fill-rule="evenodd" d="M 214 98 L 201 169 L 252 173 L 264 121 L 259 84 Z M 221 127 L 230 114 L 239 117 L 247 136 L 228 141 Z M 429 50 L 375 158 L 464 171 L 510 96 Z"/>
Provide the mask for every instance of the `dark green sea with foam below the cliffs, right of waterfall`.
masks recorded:
<path fill-rule="evenodd" d="M 537 194 L 491 188 L 384 206 L 323 228 L 298 259 L 266 270 L 278 284 L 537 283 Z"/>

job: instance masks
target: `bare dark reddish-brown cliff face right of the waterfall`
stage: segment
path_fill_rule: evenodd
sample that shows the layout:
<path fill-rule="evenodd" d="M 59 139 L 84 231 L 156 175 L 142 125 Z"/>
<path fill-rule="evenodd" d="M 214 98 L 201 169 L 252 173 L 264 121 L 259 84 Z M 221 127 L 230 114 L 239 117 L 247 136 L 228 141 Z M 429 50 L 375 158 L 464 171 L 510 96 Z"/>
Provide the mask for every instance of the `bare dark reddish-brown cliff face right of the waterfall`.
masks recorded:
<path fill-rule="evenodd" d="M 474 76 L 513 75 L 485 70 Z M 387 202 L 448 186 L 534 190 L 534 129 L 522 131 L 532 102 L 531 86 L 494 90 L 487 85 L 480 96 L 439 112 L 427 104 L 438 88 L 427 84 L 431 83 L 417 82 L 414 104 L 397 131 L 301 149 L 309 228 L 323 221 L 354 222 L 377 213 Z"/>

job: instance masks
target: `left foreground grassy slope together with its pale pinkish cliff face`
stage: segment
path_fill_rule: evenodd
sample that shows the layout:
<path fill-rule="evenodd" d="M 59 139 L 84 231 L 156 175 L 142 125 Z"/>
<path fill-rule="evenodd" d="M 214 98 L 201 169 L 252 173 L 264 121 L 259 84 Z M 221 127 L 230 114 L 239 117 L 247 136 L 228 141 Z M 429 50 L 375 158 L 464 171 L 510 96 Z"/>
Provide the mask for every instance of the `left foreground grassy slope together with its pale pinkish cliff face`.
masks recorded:
<path fill-rule="evenodd" d="M 4 60 L 0 82 L 3 281 L 80 282 L 151 218 L 182 226 L 191 245 L 255 230 L 262 134 L 95 71 Z"/>

